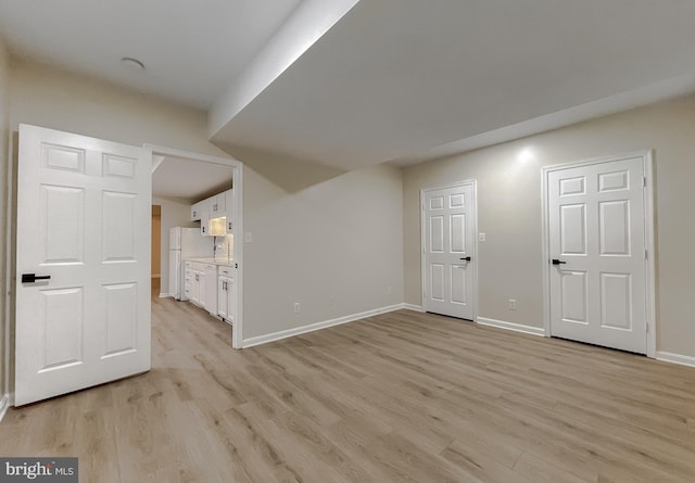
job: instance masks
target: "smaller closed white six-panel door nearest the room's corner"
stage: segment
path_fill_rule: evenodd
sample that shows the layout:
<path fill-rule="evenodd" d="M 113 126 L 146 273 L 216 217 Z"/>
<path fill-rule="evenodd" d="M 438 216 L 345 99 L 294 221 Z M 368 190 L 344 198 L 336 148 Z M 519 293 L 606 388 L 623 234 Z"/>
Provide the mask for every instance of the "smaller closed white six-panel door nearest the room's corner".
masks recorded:
<path fill-rule="evenodd" d="M 475 317 L 475 185 L 425 190 L 424 308 Z"/>

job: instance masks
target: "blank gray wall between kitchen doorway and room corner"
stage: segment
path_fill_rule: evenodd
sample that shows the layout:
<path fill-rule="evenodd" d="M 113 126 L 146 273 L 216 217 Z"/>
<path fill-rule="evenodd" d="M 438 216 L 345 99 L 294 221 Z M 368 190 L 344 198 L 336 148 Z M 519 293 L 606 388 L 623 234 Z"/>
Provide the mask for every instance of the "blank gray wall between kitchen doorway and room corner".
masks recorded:
<path fill-rule="evenodd" d="M 298 185 L 287 177 L 306 169 L 283 174 L 282 185 Z M 244 244 L 244 339 L 403 302 L 401 169 L 359 169 L 299 190 L 248 165 L 243 176 L 253 238 Z"/>

